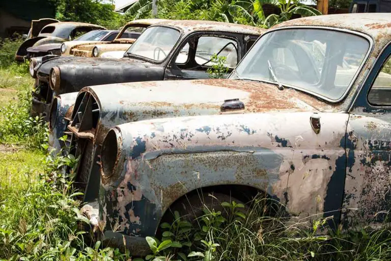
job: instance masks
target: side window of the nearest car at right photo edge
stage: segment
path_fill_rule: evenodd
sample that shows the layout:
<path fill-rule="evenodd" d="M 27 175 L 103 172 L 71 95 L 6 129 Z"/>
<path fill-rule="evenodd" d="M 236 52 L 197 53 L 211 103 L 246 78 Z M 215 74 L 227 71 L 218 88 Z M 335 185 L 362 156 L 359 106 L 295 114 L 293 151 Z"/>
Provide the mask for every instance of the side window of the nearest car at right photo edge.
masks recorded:
<path fill-rule="evenodd" d="M 377 74 L 369 91 L 368 101 L 372 105 L 391 106 L 391 56 L 388 56 Z"/>

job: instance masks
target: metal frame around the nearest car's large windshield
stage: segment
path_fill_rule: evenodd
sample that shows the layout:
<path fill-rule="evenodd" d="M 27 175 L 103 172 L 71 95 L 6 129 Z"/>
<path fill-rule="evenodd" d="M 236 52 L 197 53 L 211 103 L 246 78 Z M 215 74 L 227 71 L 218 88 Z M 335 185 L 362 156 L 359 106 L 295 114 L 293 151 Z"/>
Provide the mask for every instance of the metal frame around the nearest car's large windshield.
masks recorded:
<path fill-rule="evenodd" d="M 247 53 L 245 54 L 245 56 L 240 60 L 240 62 L 238 63 L 238 65 L 235 67 L 235 69 L 231 72 L 231 74 L 227 77 L 227 79 L 235 79 L 235 80 L 240 80 L 240 79 L 245 79 L 245 80 L 250 80 L 250 81 L 258 81 L 258 82 L 265 82 L 265 83 L 270 83 L 270 84 L 273 84 L 273 85 L 277 85 L 277 83 L 273 80 L 267 80 L 267 79 L 262 79 L 262 78 L 256 78 L 256 79 L 248 79 L 246 77 L 242 77 L 242 75 L 240 75 L 240 73 L 237 72 L 237 68 L 239 66 L 242 66 L 243 65 L 243 61 L 245 61 L 245 58 L 251 53 L 252 49 L 255 48 L 258 44 L 258 42 L 265 36 L 267 36 L 268 34 L 271 34 L 273 32 L 276 32 L 276 31 L 282 31 L 282 30 L 296 30 L 296 29 L 299 29 L 299 30 L 326 30 L 326 31 L 338 31 L 338 32 L 342 32 L 342 33 L 346 33 L 346 34 L 350 34 L 350 35 L 355 35 L 355 36 L 359 36 L 361 38 L 363 38 L 364 40 L 367 40 L 368 41 L 368 49 L 367 49 L 367 53 L 364 55 L 364 57 L 362 58 L 362 61 L 361 63 L 359 64 L 359 66 L 357 67 L 357 70 L 356 72 L 354 73 L 353 77 L 352 77 L 352 80 L 350 81 L 349 85 L 347 85 L 345 91 L 342 93 L 342 95 L 338 98 L 338 99 L 332 99 L 332 98 L 329 98 L 327 96 L 324 96 L 320 93 L 317 93 L 317 92 L 313 92 L 311 90 L 308 90 L 308 89 L 305 89 L 305 88 L 301 88 L 300 86 L 295 86 L 295 85 L 291 85 L 291 84 L 286 84 L 284 82 L 282 82 L 283 86 L 284 87 L 288 87 L 288 88 L 292 88 L 292 89 L 295 89 L 295 90 L 299 90 L 299 91 L 302 91 L 304 93 L 308 93 L 308 94 L 311 94 L 311 95 L 314 95 L 316 97 L 319 97 L 323 100 L 326 100 L 326 101 L 329 101 L 329 102 L 332 102 L 332 103 L 338 103 L 340 101 L 342 101 L 343 99 L 345 99 L 346 95 L 348 94 L 348 92 L 352 89 L 354 83 L 356 82 L 357 80 L 357 77 L 358 75 L 361 73 L 362 71 L 362 68 L 365 66 L 365 64 L 367 63 L 368 61 L 368 58 L 370 57 L 370 54 L 372 53 L 373 51 L 373 47 L 374 47 L 374 40 L 367 34 L 364 34 L 364 33 L 361 33 L 361 32 L 357 32 L 357 31 L 351 31 L 351 30 L 348 30 L 348 29 L 343 29 L 343 28 L 334 28 L 334 27 L 322 27 L 322 26 L 305 26 L 305 25 L 293 25 L 293 26 L 290 26 L 290 27 L 282 27 L 282 28 L 276 28 L 276 29 L 271 29 L 269 30 L 268 32 L 266 32 L 265 34 L 263 34 L 262 36 L 260 36 L 257 41 L 253 44 L 253 46 L 247 51 Z M 267 61 L 265 61 L 267 63 Z M 280 79 L 278 79 L 280 80 Z"/>

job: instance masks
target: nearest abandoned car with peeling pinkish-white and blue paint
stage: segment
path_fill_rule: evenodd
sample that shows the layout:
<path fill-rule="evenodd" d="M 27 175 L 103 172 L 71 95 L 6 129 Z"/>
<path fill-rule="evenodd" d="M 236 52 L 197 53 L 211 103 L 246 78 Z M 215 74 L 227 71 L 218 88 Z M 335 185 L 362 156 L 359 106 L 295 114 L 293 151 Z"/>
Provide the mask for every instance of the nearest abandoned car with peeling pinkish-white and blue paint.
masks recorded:
<path fill-rule="evenodd" d="M 302 222 L 376 226 L 391 207 L 390 24 L 295 19 L 263 34 L 228 79 L 81 89 L 70 152 L 104 240 L 142 253 L 170 210 L 201 204 L 197 190 L 237 201 L 263 192 Z"/>

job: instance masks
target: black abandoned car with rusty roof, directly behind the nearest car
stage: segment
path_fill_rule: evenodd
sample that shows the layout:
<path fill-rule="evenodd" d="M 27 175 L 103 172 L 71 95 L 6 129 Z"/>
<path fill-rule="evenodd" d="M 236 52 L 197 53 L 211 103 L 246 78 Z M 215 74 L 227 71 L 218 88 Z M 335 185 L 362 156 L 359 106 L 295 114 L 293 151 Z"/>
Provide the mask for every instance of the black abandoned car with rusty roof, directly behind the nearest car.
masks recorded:
<path fill-rule="evenodd" d="M 208 78 L 210 58 L 196 54 L 197 45 L 215 45 L 228 56 L 230 69 L 264 32 L 248 25 L 213 21 L 166 20 L 147 28 L 122 59 L 42 57 L 31 63 L 36 80 L 32 115 L 49 115 L 53 94 L 79 91 L 82 87 L 123 82 Z"/>

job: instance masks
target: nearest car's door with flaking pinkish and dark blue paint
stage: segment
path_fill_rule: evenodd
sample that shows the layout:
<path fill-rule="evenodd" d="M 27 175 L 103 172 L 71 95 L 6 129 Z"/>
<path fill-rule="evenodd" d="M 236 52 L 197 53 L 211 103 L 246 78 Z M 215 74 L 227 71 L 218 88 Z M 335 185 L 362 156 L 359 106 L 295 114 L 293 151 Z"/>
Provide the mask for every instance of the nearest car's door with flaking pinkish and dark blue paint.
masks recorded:
<path fill-rule="evenodd" d="M 352 106 L 346 134 L 345 226 L 383 222 L 391 208 L 391 44 Z"/>

